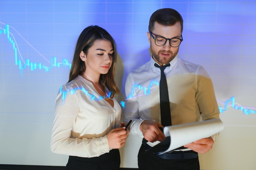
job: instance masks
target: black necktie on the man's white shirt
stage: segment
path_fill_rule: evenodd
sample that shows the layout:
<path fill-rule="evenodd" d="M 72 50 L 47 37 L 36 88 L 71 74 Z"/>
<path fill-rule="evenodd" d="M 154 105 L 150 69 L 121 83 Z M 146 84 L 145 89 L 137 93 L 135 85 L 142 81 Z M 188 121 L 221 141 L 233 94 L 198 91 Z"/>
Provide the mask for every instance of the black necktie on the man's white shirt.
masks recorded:
<path fill-rule="evenodd" d="M 170 111 L 168 87 L 167 87 L 166 77 L 164 74 L 164 69 L 170 66 L 170 63 L 164 66 L 159 66 L 158 64 L 155 63 L 155 66 L 159 67 L 161 70 L 161 79 L 159 83 L 161 123 L 163 126 L 171 126 L 171 111 Z"/>

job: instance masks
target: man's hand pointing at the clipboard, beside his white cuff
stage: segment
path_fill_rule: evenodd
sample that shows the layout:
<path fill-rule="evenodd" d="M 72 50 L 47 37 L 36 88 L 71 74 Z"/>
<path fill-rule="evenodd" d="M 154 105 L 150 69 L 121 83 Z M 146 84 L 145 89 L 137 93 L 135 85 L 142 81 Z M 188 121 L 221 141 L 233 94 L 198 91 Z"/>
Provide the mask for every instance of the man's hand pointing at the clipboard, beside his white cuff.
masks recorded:
<path fill-rule="evenodd" d="M 139 130 L 147 141 L 155 142 L 162 141 L 165 138 L 163 132 L 159 129 L 160 127 L 164 128 L 155 121 L 144 120 L 139 126 Z"/>

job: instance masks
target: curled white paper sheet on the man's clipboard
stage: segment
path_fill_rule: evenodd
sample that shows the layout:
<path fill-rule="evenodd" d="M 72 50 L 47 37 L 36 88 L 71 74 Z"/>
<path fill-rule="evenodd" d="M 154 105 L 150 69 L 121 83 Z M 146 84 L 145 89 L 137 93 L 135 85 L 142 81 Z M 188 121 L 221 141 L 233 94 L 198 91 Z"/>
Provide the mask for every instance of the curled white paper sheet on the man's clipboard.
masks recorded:
<path fill-rule="evenodd" d="M 211 119 L 206 121 L 198 121 L 189 124 L 180 124 L 164 127 L 165 137 L 170 137 L 171 140 L 166 144 L 170 145 L 169 148 L 159 154 L 169 152 L 176 148 L 180 148 L 193 141 L 197 141 L 202 138 L 210 137 L 224 129 L 224 125 L 220 119 Z M 166 142 L 166 141 L 163 141 Z M 161 142 L 148 142 L 150 146 L 160 146 Z M 163 145 L 163 144 L 162 144 Z"/>

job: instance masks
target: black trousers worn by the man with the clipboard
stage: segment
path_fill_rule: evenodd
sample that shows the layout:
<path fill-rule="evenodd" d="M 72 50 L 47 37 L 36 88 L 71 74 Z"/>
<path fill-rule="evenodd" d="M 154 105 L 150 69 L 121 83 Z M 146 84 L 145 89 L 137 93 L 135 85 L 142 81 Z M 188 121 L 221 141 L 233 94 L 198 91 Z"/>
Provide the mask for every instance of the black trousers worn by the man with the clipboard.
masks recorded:
<path fill-rule="evenodd" d="M 138 154 L 139 170 L 200 170 L 198 158 L 162 159 L 153 153 L 145 153 L 146 147 L 141 145 Z"/>

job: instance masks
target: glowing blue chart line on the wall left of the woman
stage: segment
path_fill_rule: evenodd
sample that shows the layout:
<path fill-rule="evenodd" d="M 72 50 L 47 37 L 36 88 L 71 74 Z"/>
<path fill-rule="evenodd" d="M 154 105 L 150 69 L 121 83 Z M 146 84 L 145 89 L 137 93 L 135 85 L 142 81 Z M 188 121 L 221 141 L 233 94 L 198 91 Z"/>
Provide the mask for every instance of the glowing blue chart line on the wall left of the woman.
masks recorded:
<path fill-rule="evenodd" d="M 57 62 L 56 57 L 51 57 L 51 61 L 47 60 L 45 56 L 43 56 L 39 51 L 37 51 L 25 38 L 18 33 L 16 29 L 14 29 L 12 26 L 9 26 L 8 24 L 4 24 L 3 22 L 0 22 L 0 24 L 5 25 L 5 28 L 0 27 L 0 35 L 7 35 L 7 41 L 11 44 L 13 50 L 14 50 L 14 57 L 15 57 L 15 65 L 19 66 L 20 69 L 20 74 L 21 77 L 23 77 L 23 70 L 24 69 L 30 69 L 30 71 L 34 71 L 36 69 L 39 70 L 44 70 L 45 72 L 48 72 L 54 67 L 60 68 L 61 66 L 71 68 L 71 63 L 68 62 L 67 59 L 63 59 L 62 62 Z M 29 59 L 24 60 L 22 57 L 22 54 L 20 53 L 19 46 L 16 42 L 15 37 L 13 34 L 9 31 L 9 29 L 13 29 L 38 55 L 43 57 L 43 59 L 46 60 L 46 62 L 49 63 L 50 66 L 46 66 L 45 64 L 42 63 L 36 63 L 36 62 L 31 62 Z"/>

